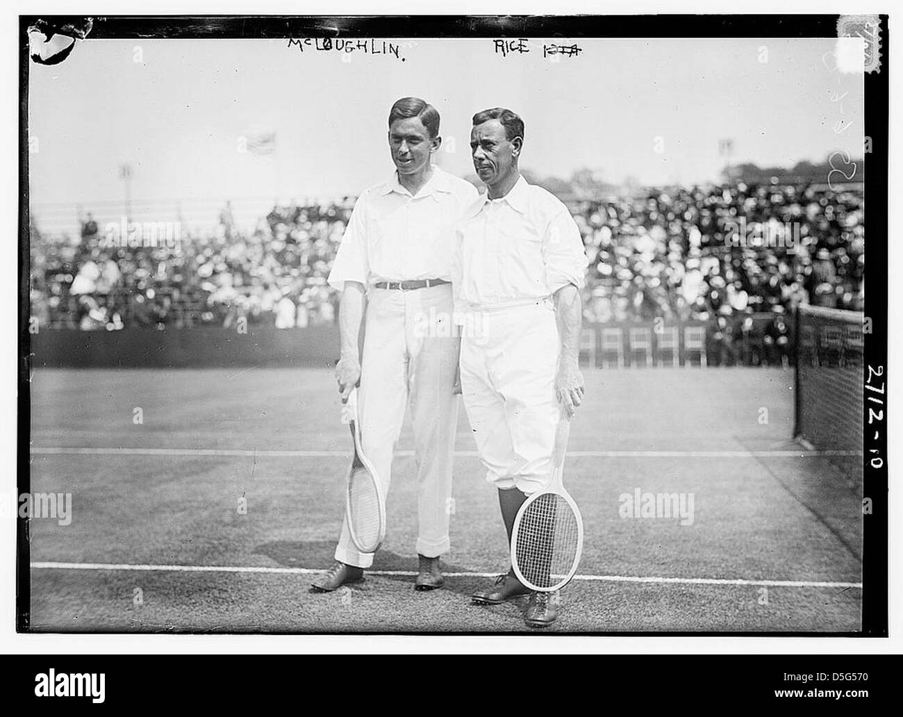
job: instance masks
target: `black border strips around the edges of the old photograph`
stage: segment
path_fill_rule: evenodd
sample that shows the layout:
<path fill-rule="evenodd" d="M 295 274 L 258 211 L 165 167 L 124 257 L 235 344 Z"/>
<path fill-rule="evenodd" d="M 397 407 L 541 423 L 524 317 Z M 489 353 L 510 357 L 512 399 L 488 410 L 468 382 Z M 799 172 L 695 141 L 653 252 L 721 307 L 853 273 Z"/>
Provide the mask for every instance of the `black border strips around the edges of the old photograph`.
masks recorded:
<path fill-rule="evenodd" d="M 872 321 L 872 333 L 864 335 L 866 367 L 883 367 L 885 419 L 879 437 L 870 440 L 868 424 L 863 445 L 863 495 L 872 500 L 871 515 L 863 516 L 862 526 L 862 621 L 861 631 L 853 632 L 581 632 L 548 633 L 577 636 L 630 637 L 887 637 L 888 636 L 888 454 L 887 393 L 888 382 L 888 162 L 889 162 L 889 51 L 888 15 L 880 16 L 881 68 L 865 74 L 865 129 L 872 140 L 872 153 L 864 156 L 866 236 L 869 237 L 869 278 L 865 297 L 865 315 Z M 16 406 L 17 495 L 30 492 L 31 426 L 31 335 L 28 331 L 29 275 L 29 164 L 28 164 L 28 56 L 27 30 L 38 15 L 19 16 L 19 322 Z M 54 15 L 57 22 L 81 19 L 80 16 Z M 826 14 L 732 14 L 732 15 L 114 15 L 95 17 L 89 39 L 288 39 L 290 37 L 565 37 L 565 38 L 835 38 L 837 15 Z M 868 371 L 868 368 L 865 369 Z M 865 393 L 863 391 L 863 393 Z M 870 405 L 863 396 L 863 421 Z M 879 468 L 871 460 L 883 459 Z M 31 632 L 31 550 L 27 519 L 16 518 L 16 630 Z M 69 633 L 56 633 L 69 634 Z M 72 634 L 84 634 L 81 632 Z M 111 631 L 100 634 L 137 634 Z M 189 631 L 179 634 L 193 634 Z M 232 633 L 240 634 L 240 633 Z M 337 635 L 335 632 L 282 633 Z M 354 635 L 424 635 L 420 632 L 355 632 Z M 476 633 L 467 631 L 431 632 L 428 635 L 517 635 L 524 633 Z"/>

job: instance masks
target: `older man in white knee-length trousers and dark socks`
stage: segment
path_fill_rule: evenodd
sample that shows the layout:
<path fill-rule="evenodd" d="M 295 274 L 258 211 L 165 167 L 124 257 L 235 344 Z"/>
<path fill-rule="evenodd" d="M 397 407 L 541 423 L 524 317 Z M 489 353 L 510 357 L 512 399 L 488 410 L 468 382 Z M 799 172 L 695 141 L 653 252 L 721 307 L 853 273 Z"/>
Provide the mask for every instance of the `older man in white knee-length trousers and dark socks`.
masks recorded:
<path fill-rule="evenodd" d="M 582 403 L 580 290 L 588 264 L 571 213 L 520 175 L 523 144 L 524 123 L 511 110 L 473 116 L 470 152 L 488 192 L 461 222 L 452 257 L 456 320 L 465 326 L 464 406 L 509 543 L 517 509 L 552 480 L 562 412 L 570 417 Z M 473 600 L 494 605 L 527 592 L 509 571 Z M 559 605 L 557 593 L 532 593 L 526 624 L 551 625 Z"/>

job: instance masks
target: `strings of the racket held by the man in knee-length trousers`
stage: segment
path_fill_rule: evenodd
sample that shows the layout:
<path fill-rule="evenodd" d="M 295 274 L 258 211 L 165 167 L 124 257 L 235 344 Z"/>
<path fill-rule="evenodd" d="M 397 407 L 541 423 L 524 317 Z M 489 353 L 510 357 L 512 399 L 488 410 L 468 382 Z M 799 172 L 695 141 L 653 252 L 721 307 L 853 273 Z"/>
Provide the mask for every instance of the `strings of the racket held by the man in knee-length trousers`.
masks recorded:
<path fill-rule="evenodd" d="M 526 582 L 551 588 L 571 573 L 580 542 L 577 520 L 567 500 L 554 493 L 526 507 L 516 541 L 517 566 Z"/>

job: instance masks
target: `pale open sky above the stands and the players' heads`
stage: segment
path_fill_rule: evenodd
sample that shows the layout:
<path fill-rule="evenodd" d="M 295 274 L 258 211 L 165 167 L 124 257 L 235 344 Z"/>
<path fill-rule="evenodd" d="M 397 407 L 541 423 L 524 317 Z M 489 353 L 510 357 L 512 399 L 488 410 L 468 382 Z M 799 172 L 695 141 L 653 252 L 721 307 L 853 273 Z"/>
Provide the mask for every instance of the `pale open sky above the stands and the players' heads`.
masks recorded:
<path fill-rule="evenodd" d="M 715 181 L 727 138 L 733 163 L 861 156 L 862 76 L 834 69 L 828 39 L 591 39 L 557 61 L 542 39 L 507 56 L 491 39 L 393 42 L 397 57 L 287 40 L 88 40 L 61 65 L 30 64 L 35 213 L 118 206 L 126 162 L 145 207 L 354 195 L 392 171 L 386 116 L 408 95 L 439 109 L 437 163 L 460 176 L 472 172 L 470 116 L 497 106 L 523 117 L 521 166 L 542 176 Z M 260 130 L 275 131 L 275 153 L 241 152 Z"/>

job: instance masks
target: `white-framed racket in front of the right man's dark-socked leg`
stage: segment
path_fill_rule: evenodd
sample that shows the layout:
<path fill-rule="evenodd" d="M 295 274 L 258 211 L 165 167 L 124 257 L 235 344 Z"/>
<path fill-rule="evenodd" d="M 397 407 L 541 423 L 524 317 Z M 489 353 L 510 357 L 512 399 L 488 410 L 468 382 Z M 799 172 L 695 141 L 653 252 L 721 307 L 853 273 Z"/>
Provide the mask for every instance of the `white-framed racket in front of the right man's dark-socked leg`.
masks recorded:
<path fill-rule="evenodd" d="M 580 508 L 564 489 L 564 455 L 571 420 L 562 412 L 555 433 L 554 472 L 548 490 L 536 492 L 517 511 L 511 535 L 511 567 L 530 590 L 561 590 L 577 572 L 583 549 Z"/>

